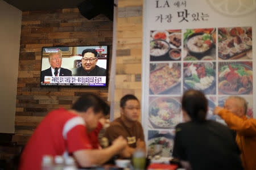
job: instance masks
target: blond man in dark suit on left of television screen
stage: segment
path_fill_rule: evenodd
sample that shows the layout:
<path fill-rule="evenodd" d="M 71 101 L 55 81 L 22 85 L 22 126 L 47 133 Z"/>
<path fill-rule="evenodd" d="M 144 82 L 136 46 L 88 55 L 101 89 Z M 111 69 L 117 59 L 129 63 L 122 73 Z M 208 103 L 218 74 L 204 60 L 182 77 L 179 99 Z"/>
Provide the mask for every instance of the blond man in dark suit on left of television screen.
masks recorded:
<path fill-rule="evenodd" d="M 57 53 L 49 53 L 49 69 L 41 71 L 41 80 L 44 82 L 44 76 L 72 76 L 71 70 L 61 67 L 62 53 L 59 50 Z"/>

